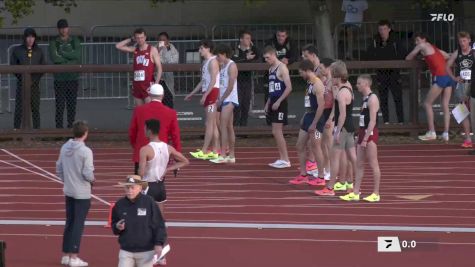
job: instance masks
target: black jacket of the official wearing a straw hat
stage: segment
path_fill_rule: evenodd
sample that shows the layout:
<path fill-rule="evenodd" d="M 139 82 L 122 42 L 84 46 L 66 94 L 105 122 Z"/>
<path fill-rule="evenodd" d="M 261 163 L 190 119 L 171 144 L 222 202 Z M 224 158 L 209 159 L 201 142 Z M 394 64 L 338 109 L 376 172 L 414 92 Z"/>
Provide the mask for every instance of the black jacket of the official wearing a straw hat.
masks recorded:
<path fill-rule="evenodd" d="M 125 219 L 125 229 L 119 231 L 117 222 Z M 157 203 L 140 193 L 135 202 L 121 198 L 112 209 L 112 231 L 119 235 L 122 250 L 145 252 L 154 250 L 155 245 L 163 246 L 167 239 L 165 222 Z"/>

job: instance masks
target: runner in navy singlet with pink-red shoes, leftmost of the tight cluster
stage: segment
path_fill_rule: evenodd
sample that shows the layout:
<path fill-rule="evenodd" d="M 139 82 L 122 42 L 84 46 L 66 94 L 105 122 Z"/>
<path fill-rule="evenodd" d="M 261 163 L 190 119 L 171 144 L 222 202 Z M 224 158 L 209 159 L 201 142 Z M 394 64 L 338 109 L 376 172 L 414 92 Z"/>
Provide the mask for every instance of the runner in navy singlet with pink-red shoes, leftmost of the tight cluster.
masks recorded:
<path fill-rule="evenodd" d="M 307 159 L 305 148 L 311 149 L 316 155 L 318 162 L 323 162 L 321 136 L 325 128 L 326 119 L 323 114 L 325 99 L 323 92 L 325 90 L 322 81 L 315 75 L 315 65 L 310 60 L 304 60 L 299 66 L 300 76 L 307 81 L 307 93 L 305 95 L 304 106 L 306 109 L 302 117 L 299 136 L 297 140 L 297 153 L 300 161 L 300 174 L 290 180 L 291 184 L 308 183 L 310 185 L 325 185 L 323 178 L 323 165 L 319 165 L 321 177 L 309 179 L 307 171 L 304 168 Z M 308 144 L 310 143 L 310 147 Z"/>

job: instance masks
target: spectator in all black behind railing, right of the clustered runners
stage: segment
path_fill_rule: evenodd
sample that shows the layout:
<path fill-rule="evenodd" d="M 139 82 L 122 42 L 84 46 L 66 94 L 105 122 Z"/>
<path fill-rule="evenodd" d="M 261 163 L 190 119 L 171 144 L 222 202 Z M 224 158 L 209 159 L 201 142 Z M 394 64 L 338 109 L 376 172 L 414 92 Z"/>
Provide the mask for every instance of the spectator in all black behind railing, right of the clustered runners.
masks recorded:
<path fill-rule="evenodd" d="M 391 29 L 391 24 L 388 20 L 379 21 L 378 34 L 375 35 L 367 52 L 369 60 L 403 60 L 406 56 L 406 50 L 400 43 L 396 33 Z M 404 122 L 400 78 L 398 69 L 379 69 L 376 71 L 384 124 L 389 124 L 389 91 L 393 95 L 398 123 L 402 124 Z"/>

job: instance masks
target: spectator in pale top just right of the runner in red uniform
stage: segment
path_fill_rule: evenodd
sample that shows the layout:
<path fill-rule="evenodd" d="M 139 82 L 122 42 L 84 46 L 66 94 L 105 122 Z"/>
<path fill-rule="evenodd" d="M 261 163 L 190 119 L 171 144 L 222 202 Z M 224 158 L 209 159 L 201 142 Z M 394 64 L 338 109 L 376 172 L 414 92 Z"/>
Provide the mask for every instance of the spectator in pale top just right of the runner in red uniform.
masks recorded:
<path fill-rule="evenodd" d="M 178 64 L 178 50 L 173 44 L 170 43 L 170 37 L 166 32 L 161 32 L 158 34 L 158 51 L 160 52 L 160 61 L 162 64 Z M 172 96 L 175 96 L 175 80 L 173 77 L 173 72 L 164 72 L 162 75 L 162 80 L 165 81 L 165 84 L 172 93 Z"/>

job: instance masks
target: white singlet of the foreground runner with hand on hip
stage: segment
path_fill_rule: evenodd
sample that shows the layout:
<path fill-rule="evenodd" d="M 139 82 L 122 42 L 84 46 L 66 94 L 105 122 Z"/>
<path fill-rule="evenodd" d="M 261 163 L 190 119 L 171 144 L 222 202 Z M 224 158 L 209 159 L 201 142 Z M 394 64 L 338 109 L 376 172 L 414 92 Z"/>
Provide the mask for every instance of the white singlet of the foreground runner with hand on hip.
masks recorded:
<path fill-rule="evenodd" d="M 162 181 L 167 171 L 170 155 L 168 145 L 164 142 L 150 142 L 148 144 L 153 149 L 153 159 L 147 161 L 143 180 L 147 182 Z"/>

